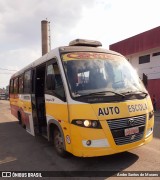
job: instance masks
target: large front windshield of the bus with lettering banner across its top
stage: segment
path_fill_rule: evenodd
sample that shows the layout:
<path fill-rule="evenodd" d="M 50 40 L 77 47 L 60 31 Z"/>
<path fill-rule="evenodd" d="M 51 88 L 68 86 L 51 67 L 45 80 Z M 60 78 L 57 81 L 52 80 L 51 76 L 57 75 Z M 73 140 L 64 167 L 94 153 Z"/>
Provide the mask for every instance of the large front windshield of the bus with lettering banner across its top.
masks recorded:
<path fill-rule="evenodd" d="M 136 70 L 122 56 L 77 52 L 62 56 L 73 97 L 98 92 L 145 92 Z"/>

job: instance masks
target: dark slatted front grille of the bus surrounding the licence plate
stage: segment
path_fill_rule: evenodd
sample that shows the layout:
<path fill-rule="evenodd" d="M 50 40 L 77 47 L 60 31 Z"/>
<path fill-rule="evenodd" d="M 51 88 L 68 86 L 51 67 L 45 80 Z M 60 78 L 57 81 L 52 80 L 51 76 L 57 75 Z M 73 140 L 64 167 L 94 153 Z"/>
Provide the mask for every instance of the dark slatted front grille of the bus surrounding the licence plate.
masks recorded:
<path fill-rule="evenodd" d="M 146 115 L 107 120 L 107 123 L 116 145 L 129 144 L 139 141 L 143 138 L 146 124 Z M 125 129 L 133 127 L 138 127 L 139 132 L 125 136 Z"/>

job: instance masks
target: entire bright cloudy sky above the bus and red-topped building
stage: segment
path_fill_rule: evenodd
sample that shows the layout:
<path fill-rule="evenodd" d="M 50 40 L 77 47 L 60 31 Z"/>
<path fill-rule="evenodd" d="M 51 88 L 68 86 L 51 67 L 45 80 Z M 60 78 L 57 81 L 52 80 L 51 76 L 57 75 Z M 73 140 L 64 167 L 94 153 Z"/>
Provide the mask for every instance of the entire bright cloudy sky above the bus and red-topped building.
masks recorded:
<path fill-rule="evenodd" d="M 160 25 L 159 0 L 0 0 L 0 88 L 41 57 L 41 21 L 51 49 L 82 38 L 103 48 Z"/>

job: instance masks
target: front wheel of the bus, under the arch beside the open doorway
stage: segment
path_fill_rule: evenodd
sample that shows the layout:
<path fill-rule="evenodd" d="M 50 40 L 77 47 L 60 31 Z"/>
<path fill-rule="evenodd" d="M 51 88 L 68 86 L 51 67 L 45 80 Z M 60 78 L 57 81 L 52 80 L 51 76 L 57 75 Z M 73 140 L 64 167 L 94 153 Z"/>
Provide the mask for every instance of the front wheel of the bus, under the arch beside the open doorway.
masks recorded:
<path fill-rule="evenodd" d="M 60 155 L 61 157 L 66 157 L 67 152 L 64 149 L 64 139 L 58 128 L 54 129 L 53 141 L 55 150 L 58 153 L 58 155 Z"/>

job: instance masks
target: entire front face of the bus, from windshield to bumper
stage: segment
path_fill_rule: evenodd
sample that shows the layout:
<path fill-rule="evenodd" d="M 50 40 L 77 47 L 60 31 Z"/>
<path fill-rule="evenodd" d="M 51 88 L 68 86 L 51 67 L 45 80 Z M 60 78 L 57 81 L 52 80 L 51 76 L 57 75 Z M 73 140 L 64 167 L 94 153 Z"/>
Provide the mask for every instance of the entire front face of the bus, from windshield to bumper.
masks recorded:
<path fill-rule="evenodd" d="M 152 140 L 149 94 L 123 56 L 72 51 L 61 57 L 70 92 L 70 140 L 65 143 L 72 154 L 114 154 Z"/>

